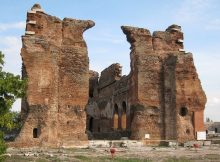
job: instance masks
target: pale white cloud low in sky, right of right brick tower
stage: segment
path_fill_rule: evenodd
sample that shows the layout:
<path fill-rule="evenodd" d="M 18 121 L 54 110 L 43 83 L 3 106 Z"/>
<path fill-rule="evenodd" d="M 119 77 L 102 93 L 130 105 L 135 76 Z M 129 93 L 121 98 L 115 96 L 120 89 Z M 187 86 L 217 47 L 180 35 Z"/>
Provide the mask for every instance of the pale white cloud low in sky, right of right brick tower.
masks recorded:
<path fill-rule="evenodd" d="M 220 121 L 220 50 L 218 47 L 200 48 L 194 53 L 194 63 L 206 93 L 205 117 Z"/>

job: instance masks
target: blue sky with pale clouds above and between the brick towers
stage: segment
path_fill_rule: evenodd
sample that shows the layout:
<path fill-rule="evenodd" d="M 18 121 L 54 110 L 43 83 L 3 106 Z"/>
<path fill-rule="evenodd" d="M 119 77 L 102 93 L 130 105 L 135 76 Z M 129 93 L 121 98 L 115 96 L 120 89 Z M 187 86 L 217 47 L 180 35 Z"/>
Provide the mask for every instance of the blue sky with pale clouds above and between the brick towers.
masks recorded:
<path fill-rule="evenodd" d="M 46 13 L 76 19 L 91 19 L 96 26 L 84 33 L 90 68 L 101 71 L 111 63 L 130 70 L 129 43 L 121 25 L 165 30 L 182 26 L 186 51 L 192 52 L 206 92 L 205 117 L 220 121 L 220 1 L 219 0 L 1 0 L 0 50 L 5 53 L 5 70 L 20 74 L 21 35 L 26 12 L 40 3 Z M 14 110 L 20 109 L 17 101 Z"/>

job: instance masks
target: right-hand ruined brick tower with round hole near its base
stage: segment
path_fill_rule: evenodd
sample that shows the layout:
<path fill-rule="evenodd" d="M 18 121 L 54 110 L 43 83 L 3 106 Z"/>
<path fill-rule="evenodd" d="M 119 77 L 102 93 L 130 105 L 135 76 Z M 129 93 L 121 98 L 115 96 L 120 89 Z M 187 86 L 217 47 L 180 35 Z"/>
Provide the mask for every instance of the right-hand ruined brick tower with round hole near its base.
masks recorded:
<path fill-rule="evenodd" d="M 143 28 L 122 30 L 131 43 L 131 138 L 194 139 L 204 129 L 206 97 L 192 55 L 183 50 L 181 27 L 171 25 L 153 35 Z"/>

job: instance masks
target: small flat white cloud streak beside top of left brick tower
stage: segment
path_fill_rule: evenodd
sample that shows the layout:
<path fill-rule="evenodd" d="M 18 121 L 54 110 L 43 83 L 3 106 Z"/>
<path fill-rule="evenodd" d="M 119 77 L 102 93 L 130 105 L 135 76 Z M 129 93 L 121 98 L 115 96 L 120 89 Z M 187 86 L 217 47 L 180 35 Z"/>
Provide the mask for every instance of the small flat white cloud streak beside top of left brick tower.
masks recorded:
<path fill-rule="evenodd" d="M 0 23 L 0 32 L 9 30 L 9 29 L 24 29 L 26 23 L 24 21 L 15 22 L 15 23 Z"/>

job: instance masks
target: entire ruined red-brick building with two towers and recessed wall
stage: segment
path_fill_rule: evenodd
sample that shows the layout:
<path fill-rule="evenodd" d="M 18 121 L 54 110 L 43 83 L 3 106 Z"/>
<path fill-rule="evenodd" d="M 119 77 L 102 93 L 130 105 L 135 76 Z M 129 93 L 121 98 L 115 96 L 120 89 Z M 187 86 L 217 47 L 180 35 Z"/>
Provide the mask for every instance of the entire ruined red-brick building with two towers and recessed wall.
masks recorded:
<path fill-rule="evenodd" d="M 34 5 L 22 36 L 22 146 L 75 146 L 91 139 L 178 140 L 204 130 L 206 96 L 181 27 L 152 35 L 122 26 L 131 44 L 129 75 L 112 64 L 89 71 L 83 32 L 92 21 L 50 16 Z"/>

